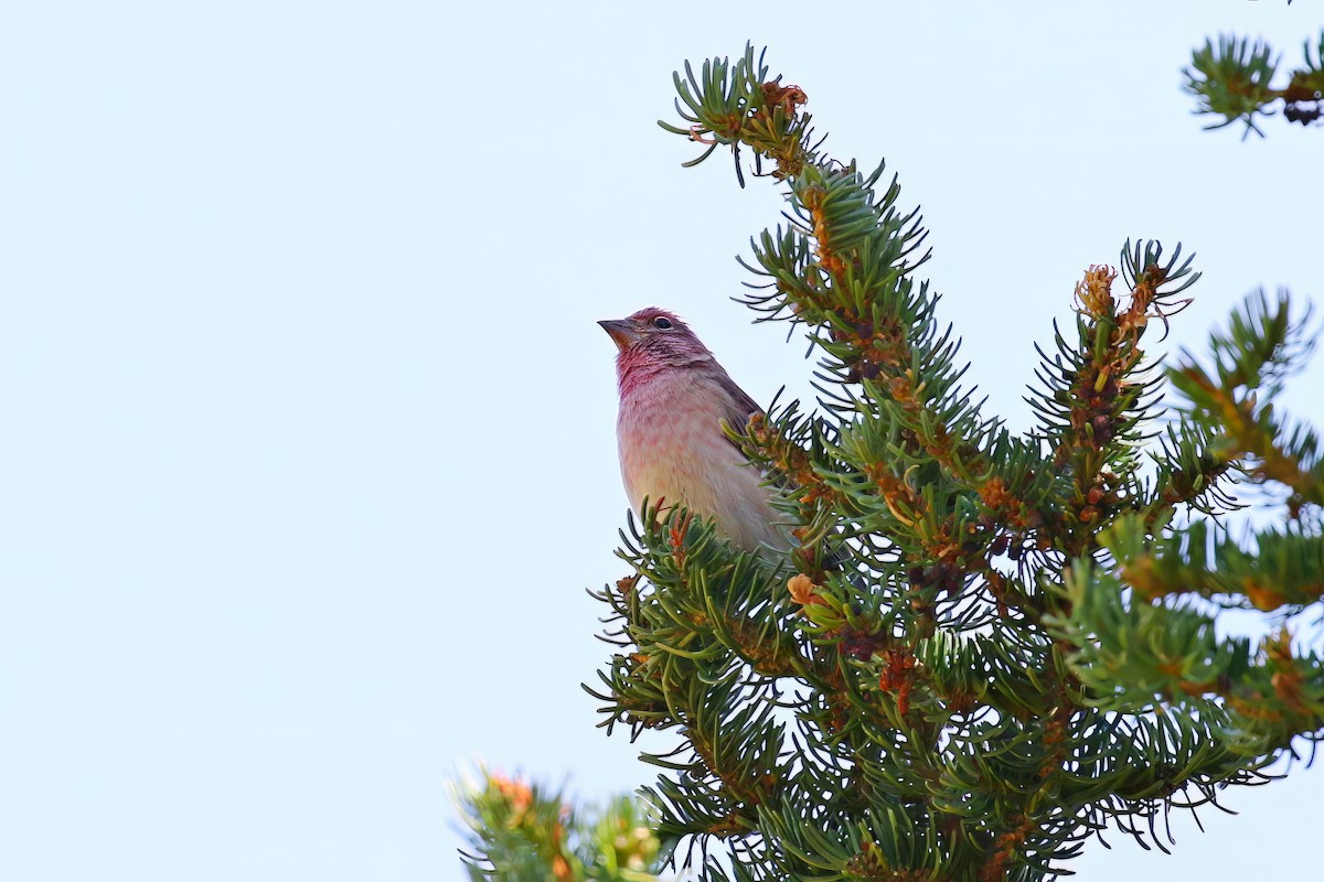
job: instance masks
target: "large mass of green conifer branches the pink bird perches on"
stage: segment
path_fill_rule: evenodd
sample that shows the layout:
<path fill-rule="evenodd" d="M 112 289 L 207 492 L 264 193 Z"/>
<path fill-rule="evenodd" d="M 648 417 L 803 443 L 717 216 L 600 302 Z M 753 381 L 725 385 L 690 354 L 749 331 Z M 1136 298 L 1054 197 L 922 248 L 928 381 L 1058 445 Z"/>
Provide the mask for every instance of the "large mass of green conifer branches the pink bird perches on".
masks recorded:
<path fill-rule="evenodd" d="M 1039 426 L 1013 435 L 963 385 L 896 179 L 829 157 L 805 90 L 752 49 L 675 83 L 683 124 L 662 126 L 704 144 L 690 164 L 728 149 L 741 185 L 748 160 L 784 188 L 745 303 L 805 329 L 822 411 L 732 427 L 798 547 L 735 553 L 646 509 L 632 575 L 596 594 L 602 725 L 679 739 L 643 758 L 662 854 L 710 879 L 1039 879 L 1104 829 L 1162 846 L 1156 819 L 1324 737 L 1316 655 L 1213 628 L 1218 604 L 1290 616 L 1324 594 L 1320 442 L 1272 407 L 1309 354 L 1286 295 L 1215 335 L 1211 366 L 1161 372 L 1145 335 L 1198 274 L 1128 242 L 1076 287 Z M 1284 488 L 1291 524 L 1234 541 L 1210 518 L 1251 481 Z"/>

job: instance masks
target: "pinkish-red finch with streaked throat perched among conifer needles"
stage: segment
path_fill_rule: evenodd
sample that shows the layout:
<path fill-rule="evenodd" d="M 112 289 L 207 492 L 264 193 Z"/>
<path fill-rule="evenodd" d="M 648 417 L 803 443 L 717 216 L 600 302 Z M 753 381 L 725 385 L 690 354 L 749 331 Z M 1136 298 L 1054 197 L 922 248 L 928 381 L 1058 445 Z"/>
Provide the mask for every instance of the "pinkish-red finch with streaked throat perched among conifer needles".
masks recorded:
<path fill-rule="evenodd" d="M 616 442 L 636 514 L 645 500 L 678 505 L 711 517 L 745 551 L 790 549 L 790 524 L 772 504 L 777 491 L 722 428 L 743 430 L 763 409 L 675 315 L 649 307 L 598 324 L 620 350 Z"/>

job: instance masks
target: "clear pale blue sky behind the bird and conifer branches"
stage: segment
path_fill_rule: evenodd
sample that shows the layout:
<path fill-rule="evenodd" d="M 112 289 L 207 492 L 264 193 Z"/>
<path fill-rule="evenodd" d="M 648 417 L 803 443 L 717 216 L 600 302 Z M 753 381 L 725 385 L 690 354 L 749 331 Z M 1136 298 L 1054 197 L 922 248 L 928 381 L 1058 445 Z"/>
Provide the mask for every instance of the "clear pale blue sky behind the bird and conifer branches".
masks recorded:
<path fill-rule="evenodd" d="M 458 763 L 651 780 L 580 689 L 625 512 L 594 320 L 671 307 L 763 402 L 810 376 L 727 300 L 777 192 L 654 126 L 685 58 L 769 45 L 837 156 L 887 157 L 970 376 L 1027 426 L 1031 341 L 1127 237 L 1200 254 L 1173 346 L 1259 284 L 1320 299 L 1321 132 L 1205 134 L 1178 90 L 1207 34 L 1295 58 L 1317 28 L 1268 0 L 8 0 L 0 878 L 458 879 Z M 1321 374 L 1290 397 L 1316 421 Z M 1071 869 L 1315 878 L 1320 775 Z"/>

